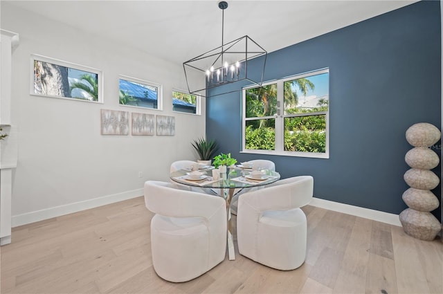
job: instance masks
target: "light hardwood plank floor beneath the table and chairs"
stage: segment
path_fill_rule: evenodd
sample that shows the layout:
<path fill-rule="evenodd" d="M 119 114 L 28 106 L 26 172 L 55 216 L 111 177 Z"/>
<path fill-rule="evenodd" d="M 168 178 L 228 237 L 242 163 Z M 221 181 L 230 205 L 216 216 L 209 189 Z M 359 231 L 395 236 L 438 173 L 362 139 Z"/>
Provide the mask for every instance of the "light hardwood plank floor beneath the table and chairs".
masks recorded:
<path fill-rule="evenodd" d="M 305 264 L 280 271 L 238 254 L 190 282 L 156 275 L 143 197 L 14 228 L 1 293 L 443 293 L 443 244 L 397 226 L 303 208 Z M 235 221 L 235 217 L 233 217 Z"/>

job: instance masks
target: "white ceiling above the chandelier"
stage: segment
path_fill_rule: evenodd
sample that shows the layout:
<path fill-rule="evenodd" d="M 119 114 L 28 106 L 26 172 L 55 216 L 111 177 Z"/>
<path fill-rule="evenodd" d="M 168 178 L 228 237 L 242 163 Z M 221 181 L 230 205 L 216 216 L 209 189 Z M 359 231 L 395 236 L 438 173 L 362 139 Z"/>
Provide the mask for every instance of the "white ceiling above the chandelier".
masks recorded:
<path fill-rule="evenodd" d="M 4 2 L 4 0 L 2 0 Z M 12 5 L 177 64 L 221 46 L 219 1 L 11 1 Z M 224 41 L 268 52 L 417 1 L 228 1 Z"/>

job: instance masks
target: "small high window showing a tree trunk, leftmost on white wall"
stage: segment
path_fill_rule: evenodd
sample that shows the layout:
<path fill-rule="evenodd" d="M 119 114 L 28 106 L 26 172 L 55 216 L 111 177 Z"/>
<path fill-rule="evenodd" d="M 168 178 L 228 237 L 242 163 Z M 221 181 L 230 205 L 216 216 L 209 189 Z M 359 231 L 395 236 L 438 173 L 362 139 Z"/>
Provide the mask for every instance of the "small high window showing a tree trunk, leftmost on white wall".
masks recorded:
<path fill-rule="evenodd" d="M 31 94 L 102 102 L 101 71 L 40 55 L 31 55 Z"/>

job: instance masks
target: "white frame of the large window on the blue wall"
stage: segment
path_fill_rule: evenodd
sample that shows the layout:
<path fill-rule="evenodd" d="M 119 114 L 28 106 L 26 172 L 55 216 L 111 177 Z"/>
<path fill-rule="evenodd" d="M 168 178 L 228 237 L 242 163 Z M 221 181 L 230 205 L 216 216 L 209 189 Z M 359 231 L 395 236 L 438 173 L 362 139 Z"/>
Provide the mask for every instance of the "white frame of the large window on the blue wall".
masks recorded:
<path fill-rule="evenodd" d="M 246 118 L 246 90 L 248 89 L 256 89 L 259 88 L 256 85 L 245 86 L 242 89 L 242 151 L 240 153 L 247 154 L 266 154 L 266 155 L 278 155 L 278 156 L 295 156 L 295 157 L 309 157 L 309 158 L 329 158 L 329 97 L 330 97 L 330 87 L 328 76 L 328 107 L 327 111 L 318 111 L 313 113 L 291 113 L 285 114 L 284 109 L 284 82 L 297 80 L 304 77 L 311 77 L 313 75 L 321 75 L 323 73 L 329 74 L 329 68 L 320 68 L 318 70 L 309 71 L 306 73 L 300 73 L 297 75 L 291 75 L 289 77 L 284 77 L 278 80 L 271 80 L 268 82 L 263 82 L 262 86 L 268 86 L 270 84 L 277 84 L 277 103 L 281 106 L 278 107 L 278 111 L 280 111 L 275 116 L 262 116 L 262 117 L 254 117 L 254 118 Z M 284 151 L 284 118 L 294 118 L 301 116 L 319 116 L 325 115 L 326 127 L 325 127 L 325 152 L 302 152 L 302 151 Z M 246 121 L 248 120 L 257 120 L 257 119 L 269 119 L 275 118 L 275 149 L 274 150 L 262 150 L 262 149 L 246 149 Z"/>

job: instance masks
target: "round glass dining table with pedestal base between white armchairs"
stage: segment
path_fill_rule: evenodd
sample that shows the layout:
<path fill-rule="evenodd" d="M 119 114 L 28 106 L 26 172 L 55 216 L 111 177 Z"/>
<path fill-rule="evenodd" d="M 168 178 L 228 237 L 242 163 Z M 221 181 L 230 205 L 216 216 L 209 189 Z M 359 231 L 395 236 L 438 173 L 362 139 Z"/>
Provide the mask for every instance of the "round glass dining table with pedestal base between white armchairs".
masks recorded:
<path fill-rule="evenodd" d="M 235 259 L 234 241 L 232 235 L 232 225 L 230 222 L 230 201 L 233 196 L 241 190 L 249 190 L 251 187 L 262 187 L 274 183 L 280 179 L 278 172 L 269 169 L 260 169 L 262 176 L 259 178 L 251 175 L 252 169 L 241 166 L 228 167 L 226 173 L 219 174 L 219 178 L 213 178 L 214 167 L 204 167 L 199 169 L 202 173 L 200 177 L 192 178 L 192 169 L 180 169 L 170 174 L 172 181 L 183 185 L 201 187 L 210 194 L 217 194 L 226 200 L 227 221 L 228 221 L 228 255 L 229 260 Z"/>

